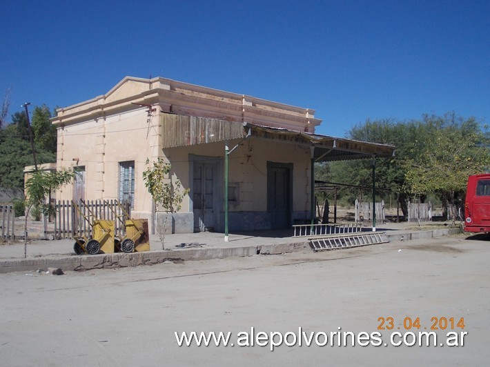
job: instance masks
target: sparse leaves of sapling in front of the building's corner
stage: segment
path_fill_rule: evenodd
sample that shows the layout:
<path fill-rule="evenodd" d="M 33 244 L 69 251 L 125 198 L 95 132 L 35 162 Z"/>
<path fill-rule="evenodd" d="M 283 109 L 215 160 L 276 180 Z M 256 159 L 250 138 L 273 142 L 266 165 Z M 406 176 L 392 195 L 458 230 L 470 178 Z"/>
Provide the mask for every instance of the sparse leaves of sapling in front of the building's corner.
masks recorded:
<path fill-rule="evenodd" d="M 179 179 L 172 182 L 171 177 L 168 177 L 171 166 L 160 157 L 151 165 L 150 160 L 146 159 L 146 167 L 143 180 L 155 203 L 161 205 L 166 212 L 178 212 L 189 189 L 182 190 Z"/>

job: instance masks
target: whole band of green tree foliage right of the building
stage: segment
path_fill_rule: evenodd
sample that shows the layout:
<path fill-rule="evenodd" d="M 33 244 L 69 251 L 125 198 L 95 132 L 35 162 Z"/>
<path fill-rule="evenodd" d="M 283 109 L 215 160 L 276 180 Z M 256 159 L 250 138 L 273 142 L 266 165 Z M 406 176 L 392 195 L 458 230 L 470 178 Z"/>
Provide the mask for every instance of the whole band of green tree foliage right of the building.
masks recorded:
<path fill-rule="evenodd" d="M 397 195 L 402 210 L 413 196 L 461 201 L 468 175 L 490 167 L 487 126 L 454 113 L 411 121 L 366 120 L 351 129 L 349 138 L 395 146 L 395 157 L 376 160 L 375 186 L 390 190 L 378 190 L 379 199 Z M 327 167 L 317 170 L 317 179 L 365 186 L 362 195 L 371 195 L 371 159 L 318 164 Z M 339 196 L 354 201 L 359 193 L 359 188 L 340 188 Z"/>

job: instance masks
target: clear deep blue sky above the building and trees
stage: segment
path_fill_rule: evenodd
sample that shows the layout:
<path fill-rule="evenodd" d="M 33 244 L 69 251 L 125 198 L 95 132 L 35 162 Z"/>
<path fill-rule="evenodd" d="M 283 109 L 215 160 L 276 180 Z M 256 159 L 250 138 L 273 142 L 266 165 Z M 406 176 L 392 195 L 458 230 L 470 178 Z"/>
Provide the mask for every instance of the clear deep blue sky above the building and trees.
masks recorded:
<path fill-rule="evenodd" d="M 368 118 L 490 123 L 489 0 L 0 3 L 10 115 L 151 76 L 312 108 L 335 137 Z"/>

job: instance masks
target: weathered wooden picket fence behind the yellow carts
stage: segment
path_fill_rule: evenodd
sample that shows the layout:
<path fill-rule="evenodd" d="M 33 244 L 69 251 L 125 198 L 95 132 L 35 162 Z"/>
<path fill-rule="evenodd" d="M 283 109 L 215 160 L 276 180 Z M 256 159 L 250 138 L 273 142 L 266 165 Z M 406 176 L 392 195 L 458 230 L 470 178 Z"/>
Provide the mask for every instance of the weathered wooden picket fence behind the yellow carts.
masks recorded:
<path fill-rule="evenodd" d="M 131 204 L 117 200 L 79 200 L 77 203 L 58 200 L 53 205 L 57 212 L 52 219 L 55 239 L 72 238 L 75 235 L 90 237 L 92 224 L 97 219 L 115 221 L 115 235 L 124 235 L 124 222 L 131 216 Z"/>

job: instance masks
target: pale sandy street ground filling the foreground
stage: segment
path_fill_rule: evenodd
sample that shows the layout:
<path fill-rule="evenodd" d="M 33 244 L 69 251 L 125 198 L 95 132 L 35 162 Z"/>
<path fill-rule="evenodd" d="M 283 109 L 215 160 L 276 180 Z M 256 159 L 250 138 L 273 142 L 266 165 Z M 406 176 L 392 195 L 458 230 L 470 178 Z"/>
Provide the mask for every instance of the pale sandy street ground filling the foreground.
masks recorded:
<path fill-rule="evenodd" d="M 489 241 L 467 235 L 118 270 L 0 274 L 4 366 L 484 366 Z M 378 330 L 393 317 L 393 330 Z M 464 317 L 464 346 L 391 346 Z M 385 324 L 386 326 L 386 324 Z M 175 332 L 382 334 L 381 346 L 177 346 Z M 400 330 L 398 329 L 400 328 Z M 438 330 L 438 344 L 451 331 Z M 243 335 L 243 334 L 242 334 Z M 400 338 L 398 338 L 400 339 Z M 320 341 L 323 339 L 320 338 Z M 388 344 L 384 346 L 384 343 Z"/>

